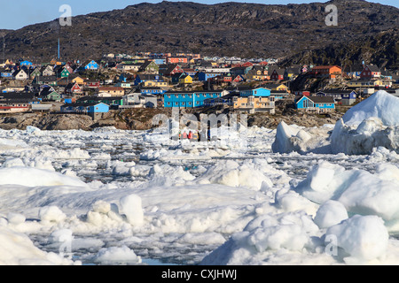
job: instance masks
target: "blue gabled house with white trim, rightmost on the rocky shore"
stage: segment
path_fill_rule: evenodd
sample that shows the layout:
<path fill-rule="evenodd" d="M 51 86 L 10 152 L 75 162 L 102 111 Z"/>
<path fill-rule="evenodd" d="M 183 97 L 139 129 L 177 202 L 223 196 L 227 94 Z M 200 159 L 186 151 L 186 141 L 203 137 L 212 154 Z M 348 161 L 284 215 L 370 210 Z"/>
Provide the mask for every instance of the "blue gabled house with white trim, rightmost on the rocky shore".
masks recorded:
<path fill-rule="evenodd" d="M 301 96 L 295 104 L 297 109 L 317 113 L 335 110 L 335 101 L 331 96 Z"/>

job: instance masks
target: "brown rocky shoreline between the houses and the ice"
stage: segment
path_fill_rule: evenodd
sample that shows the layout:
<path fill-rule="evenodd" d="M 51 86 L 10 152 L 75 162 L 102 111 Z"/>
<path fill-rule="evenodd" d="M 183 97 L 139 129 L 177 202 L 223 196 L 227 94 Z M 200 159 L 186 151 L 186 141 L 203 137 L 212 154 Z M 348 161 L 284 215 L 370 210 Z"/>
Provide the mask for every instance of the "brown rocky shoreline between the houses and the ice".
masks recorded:
<path fill-rule="evenodd" d="M 197 120 L 200 121 L 200 114 L 215 113 L 219 114 L 237 114 L 238 120 L 240 119 L 239 112 L 231 112 L 228 108 L 215 107 L 198 110 L 181 110 L 180 115 L 194 114 Z M 50 114 L 50 113 L 18 113 L 8 114 L 0 117 L 0 129 L 27 129 L 27 126 L 35 126 L 41 130 L 85 130 L 90 131 L 97 127 L 114 126 L 121 130 L 148 130 L 154 127 L 153 117 L 157 114 L 172 117 L 170 109 L 136 109 L 136 110 L 123 110 L 113 111 L 112 115 L 106 119 L 91 119 L 87 115 L 76 114 Z M 264 126 L 270 129 L 276 128 L 281 121 L 285 121 L 288 125 L 298 126 L 322 126 L 325 124 L 335 124 L 343 115 L 342 112 L 336 111 L 328 115 L 307 114 L 296 111 L 294 109 L 286 108 L 286 105 L 277 107 L 276 115 L 267 113 L 256 113 L 247 116 L 247 126 Z M 183 119 L 181 122 L 183 123 Z M 182 124 L 181 126 L 188 126 Z M 200 124 L 199 124 L 200 128 Z"/>

